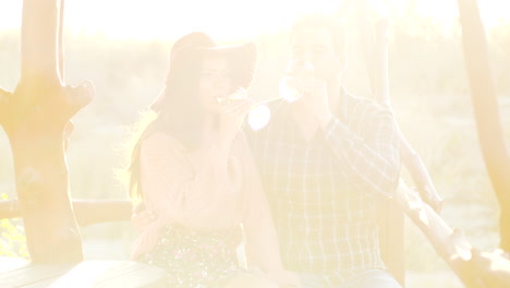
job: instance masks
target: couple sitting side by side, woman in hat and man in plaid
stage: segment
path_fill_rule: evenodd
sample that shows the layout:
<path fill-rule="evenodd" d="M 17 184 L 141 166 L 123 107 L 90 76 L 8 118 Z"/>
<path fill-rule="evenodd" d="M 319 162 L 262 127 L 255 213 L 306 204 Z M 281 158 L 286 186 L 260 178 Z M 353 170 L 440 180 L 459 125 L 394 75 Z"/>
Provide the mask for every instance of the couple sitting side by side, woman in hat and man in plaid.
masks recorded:
<path fill-rule="evenodd" d="M 218 103 L 248 87 L 254 45 L 218 47 L 204 33 L 173 45 L 131 158 L 130 190 L 145 205 L 134 260 L 166 268 L 179 288 L 400 287 L 376 225 L 399 178 L 397 128 L 390 111 L 342 88 L 342 35 L 327 15 L 294 23 L 291 59 L 315 76 L 301 99 L 274 103 L 256 132 L 243 130 L 250 99 Z M 243 238 L 247 269 L 236 260 Z"/>

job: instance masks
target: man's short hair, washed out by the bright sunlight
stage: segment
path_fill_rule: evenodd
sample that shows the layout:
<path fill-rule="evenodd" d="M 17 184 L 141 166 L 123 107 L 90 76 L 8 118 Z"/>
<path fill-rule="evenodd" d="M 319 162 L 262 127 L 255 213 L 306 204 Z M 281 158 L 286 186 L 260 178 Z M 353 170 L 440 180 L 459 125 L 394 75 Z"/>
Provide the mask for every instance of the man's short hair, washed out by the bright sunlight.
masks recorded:
<path fill-rule="evenodd" d="M 342 22 L 332 15 L 313 13 L 298 19 L 292 25 L 290 39 L 301 29 L 323 27 L 329 29 L 332 35 L 337 57 L 347 60 L 345 28 Z"/>

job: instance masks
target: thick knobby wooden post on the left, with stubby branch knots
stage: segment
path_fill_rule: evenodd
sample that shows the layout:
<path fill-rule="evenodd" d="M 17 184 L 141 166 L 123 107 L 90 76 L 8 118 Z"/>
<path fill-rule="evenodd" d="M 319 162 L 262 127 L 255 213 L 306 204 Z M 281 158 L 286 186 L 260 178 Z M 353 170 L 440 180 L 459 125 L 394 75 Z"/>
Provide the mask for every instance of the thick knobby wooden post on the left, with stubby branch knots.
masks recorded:
<path fill-rule="evenodd" d="M 59 0 L 25 0 L 21 79 L 0 93 L 27 247 L 35 263 L 83 260 L 69 196 L 64 128 L 92 98 L 92 85 L 64 86 L 59 71 Z M 62 63 L 63 64 L 63 63 Z"/>

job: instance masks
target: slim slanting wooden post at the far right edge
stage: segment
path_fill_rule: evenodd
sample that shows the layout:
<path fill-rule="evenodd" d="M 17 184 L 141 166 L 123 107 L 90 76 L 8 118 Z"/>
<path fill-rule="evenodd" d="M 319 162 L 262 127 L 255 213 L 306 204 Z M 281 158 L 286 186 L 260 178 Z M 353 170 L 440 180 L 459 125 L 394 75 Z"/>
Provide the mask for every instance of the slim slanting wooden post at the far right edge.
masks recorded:
<path fill-rule="evenodd" d="M 499 202 L 500 248 L 510 252 L 510 157 L 499 120 L 485 31 L 475 0 L 458 0 L 458 5 L 478 142 Z"/>

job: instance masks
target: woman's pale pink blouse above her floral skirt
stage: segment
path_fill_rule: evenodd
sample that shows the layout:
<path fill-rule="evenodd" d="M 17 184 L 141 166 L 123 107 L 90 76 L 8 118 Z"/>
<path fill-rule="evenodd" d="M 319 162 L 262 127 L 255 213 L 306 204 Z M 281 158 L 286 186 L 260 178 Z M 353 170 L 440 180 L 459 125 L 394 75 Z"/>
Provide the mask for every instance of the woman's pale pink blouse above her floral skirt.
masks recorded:
<path fill-rule="evenodd" d="M 236 194 L 227 159 L 210 146 L 198 153 L 199 163 L 192 165 L 185 149 L 163 133 L 142 144 L 142 188 L 146 208 L 156 215 L 153 225 L 177 223 L 196 229 L 231 225 Z"/>

